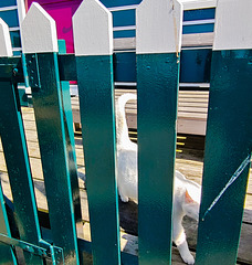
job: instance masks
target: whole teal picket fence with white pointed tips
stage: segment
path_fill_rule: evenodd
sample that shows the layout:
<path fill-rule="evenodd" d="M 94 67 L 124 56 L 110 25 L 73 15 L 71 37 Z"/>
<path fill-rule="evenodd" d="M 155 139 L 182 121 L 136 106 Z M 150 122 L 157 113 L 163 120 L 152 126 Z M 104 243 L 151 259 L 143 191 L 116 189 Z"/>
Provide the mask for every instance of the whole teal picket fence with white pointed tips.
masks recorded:
<path fill-rule="evenodd" d="M 250 0 L 217 4 L 197 265 L 237 261 L 252 149 L 249 11 Z M 85 264 L 83 253 L 92 251 L 98 265 L 171 264 L 182 6 L 144 0 L 136 10 L 138 256 L 122 252 L 119 241 L 112 14 L 98 0 L 85 0 L 73 24 L 75 54 L 65 54 L 59 50 L 55 22 L 33 3 L 21 25 L 19 57 L 12 56 L 8 26 L 0 20 L 0 138 L 19 232 L 11 232 L 0 189 L 0 263 L 20 264 L 21 253 L 25 264 Z M 32 91 L 48 236 L 41 233 L 18 97 L 24 81 Z M 91 244 L 76 232 L 82 205 L 70 81 L 78 83 Z"/>

